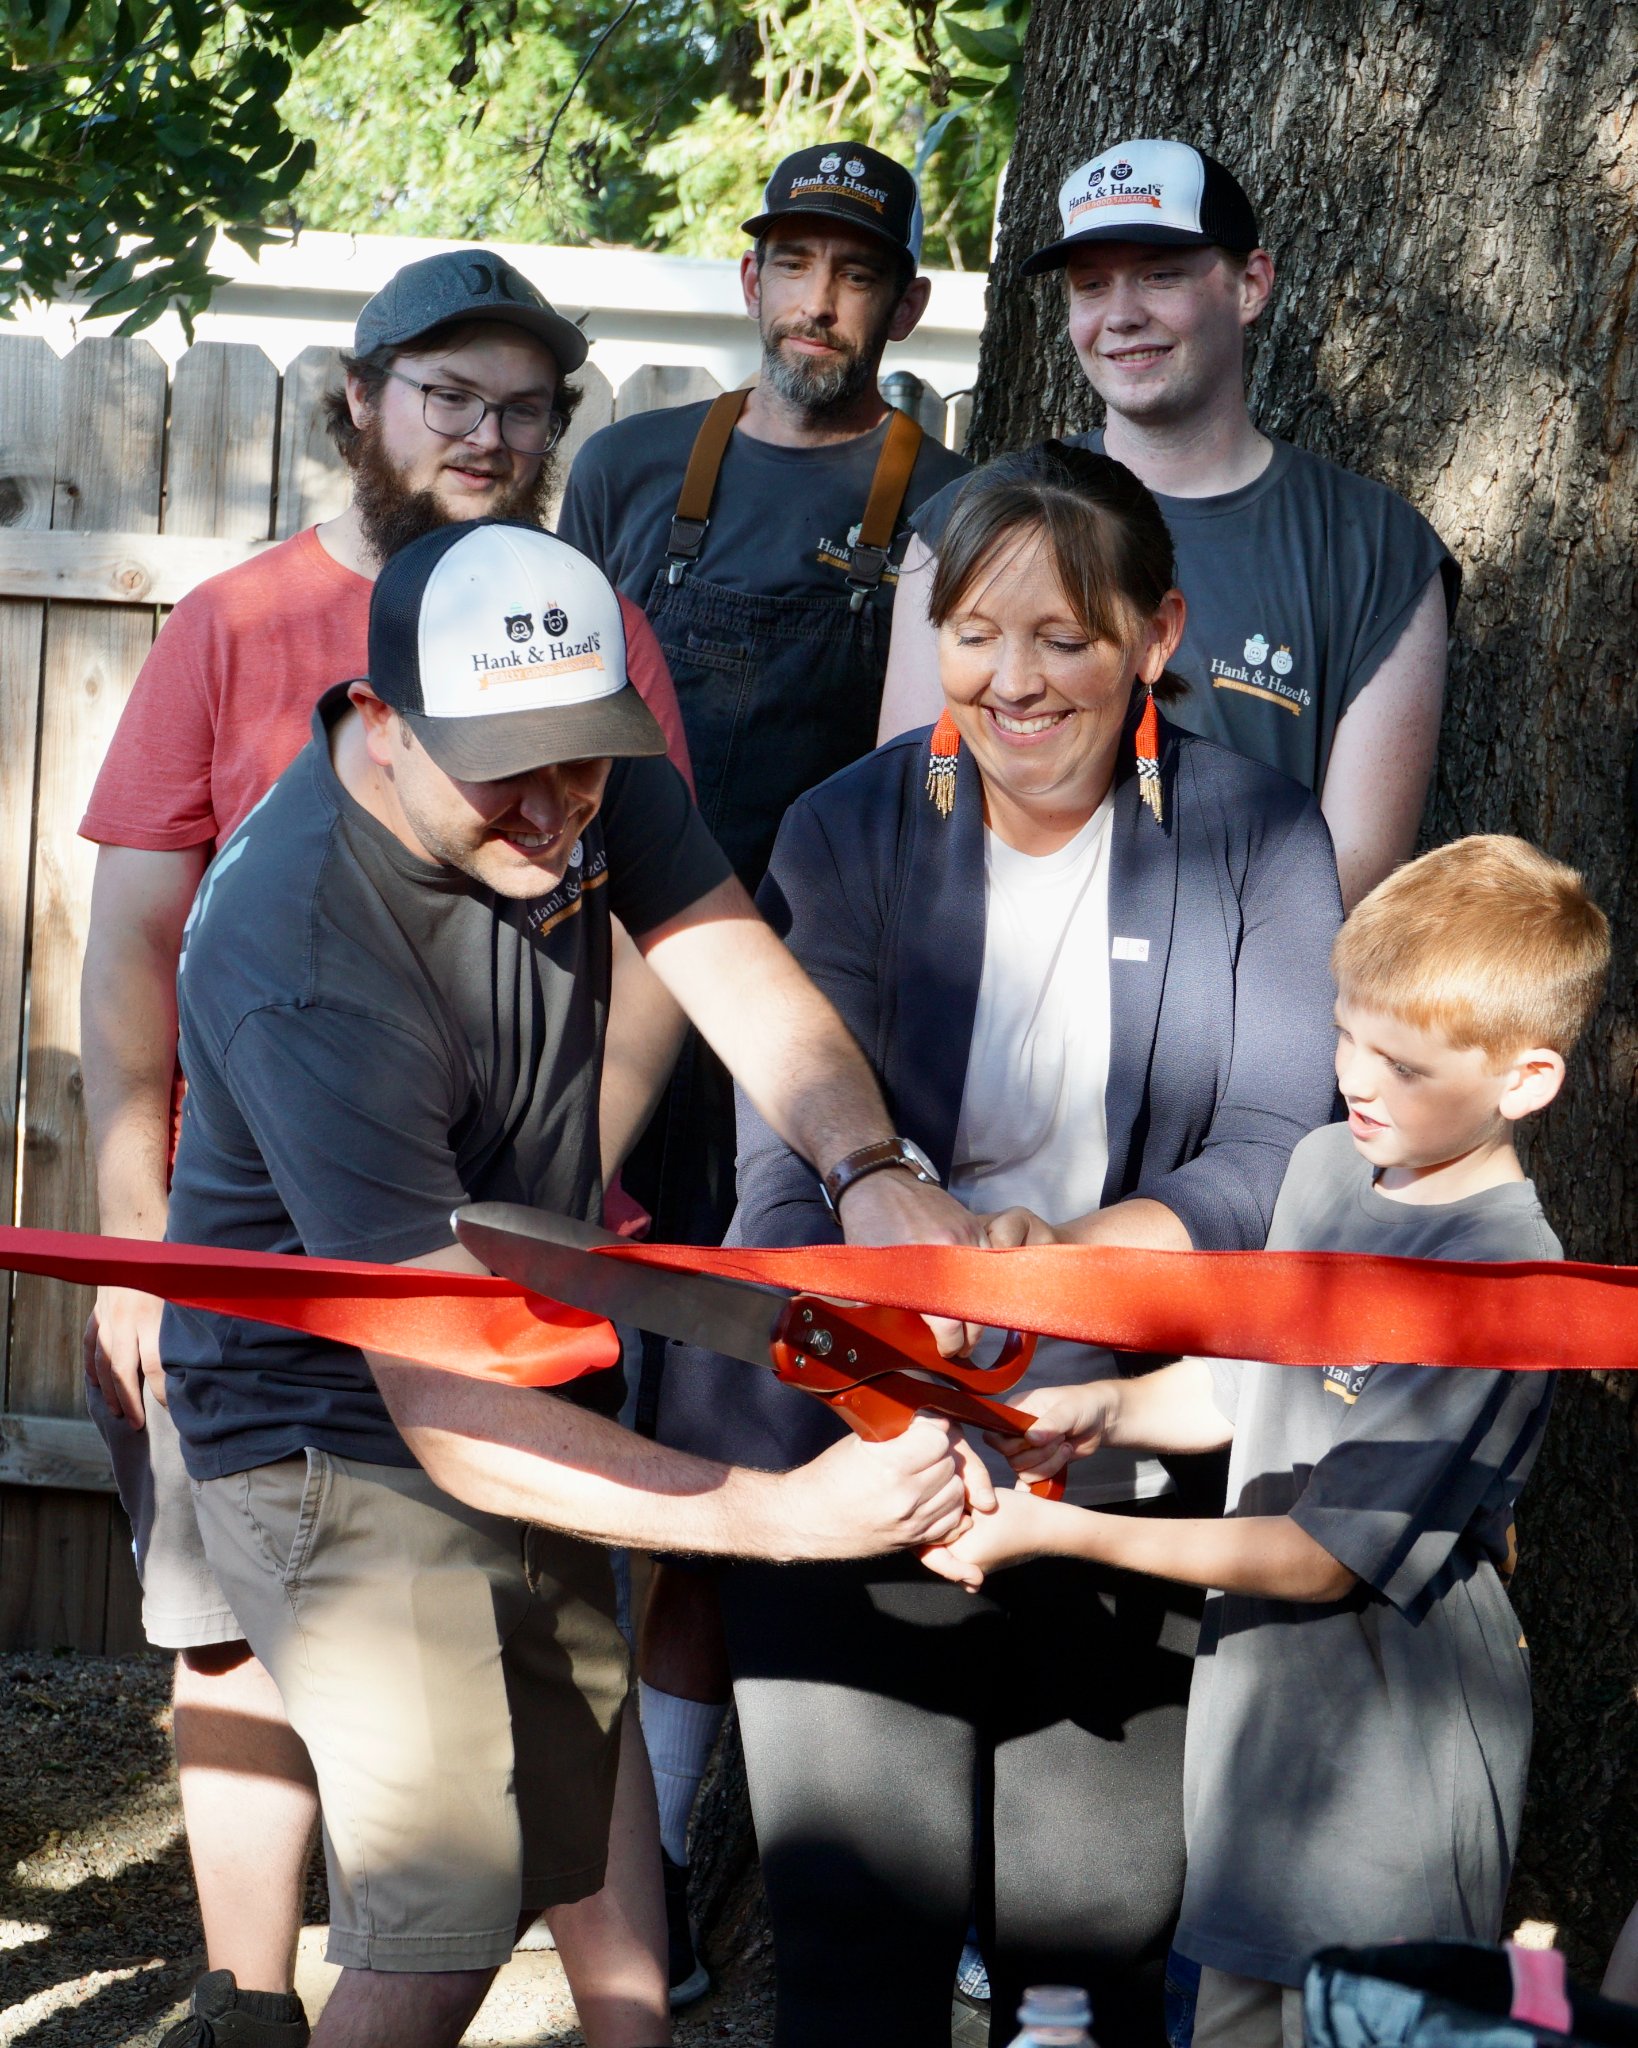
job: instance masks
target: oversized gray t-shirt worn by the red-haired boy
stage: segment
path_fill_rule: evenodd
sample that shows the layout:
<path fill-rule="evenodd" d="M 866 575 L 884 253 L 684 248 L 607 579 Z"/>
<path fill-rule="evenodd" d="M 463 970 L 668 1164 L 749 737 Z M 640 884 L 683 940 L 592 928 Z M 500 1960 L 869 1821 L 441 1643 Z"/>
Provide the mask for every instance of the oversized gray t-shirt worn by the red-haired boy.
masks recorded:
<path fill-rule="evenodd" d="M 1345 1124 L 1292 1153 L 1269 1249 L 1562 1257 L 1529 1182 L 1392 1202 Z M 1329 1606 L 1208 1597 L 1177 1948 L 1300 1985 L 1331 1942 L 1497 1939 L 1529 1763 L 1499 1567 L 1552 1376 L 1218 1360 L 1212 1380 L 1228 1511 L 1290 1513 L 1362 1583 Z"/>

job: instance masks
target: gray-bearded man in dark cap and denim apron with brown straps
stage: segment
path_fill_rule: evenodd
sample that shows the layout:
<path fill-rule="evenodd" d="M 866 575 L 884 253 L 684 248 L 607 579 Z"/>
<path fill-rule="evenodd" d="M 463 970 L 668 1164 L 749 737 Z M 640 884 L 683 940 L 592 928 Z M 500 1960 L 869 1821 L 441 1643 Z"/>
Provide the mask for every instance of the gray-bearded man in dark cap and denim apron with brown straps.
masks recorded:
<path fill-rule="evenodd" d="M 878 371 L 928 305 L 915 178 L 864 143 L 774 170 L 739 274 L 762 334 L 749 391 L 620 420 L 575 457 L 559 532 L 647 610 L 676 680 L 700 811 L 756 889 L 790 803 L 876 737 L 897 565 L 962 457 L 889 410 Z M 684 1049 L 627 1174 L 663 1239 L 717 1243 L 733 1212 L 733 1100 Z M 647 1346 L 645 1411 L 661 1348 Z M 688 1812 L 725 1714 L 715 1591 L 659 1567 L 643 1726 L 667 1855 L 678 2001 L 706 1976 L 684 1909 Z"/>

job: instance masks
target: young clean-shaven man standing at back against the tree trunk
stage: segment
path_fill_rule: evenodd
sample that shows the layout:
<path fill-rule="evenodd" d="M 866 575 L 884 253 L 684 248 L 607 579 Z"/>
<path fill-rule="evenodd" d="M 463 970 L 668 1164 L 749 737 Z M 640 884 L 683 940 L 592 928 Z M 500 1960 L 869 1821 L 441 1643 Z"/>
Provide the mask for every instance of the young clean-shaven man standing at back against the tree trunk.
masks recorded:
<path fill-rule="evenodd" d="M 1104 399 L 1077 436 L 1159 498 L 1190 618 L 1177 723 L 1284 768 L 1321 799 L 1347 903 L 1415 842 L 1458 571 L 1405 500 L 1259 432 L 1245 332 L 1274 260 L 1235 176 L 1181 141 L 1120 141 L 1059 193 L 1069 338 Z M 938 717 L 930 561 L 952 494 L 915 516 L 893 618 L 882 737 Z"/>

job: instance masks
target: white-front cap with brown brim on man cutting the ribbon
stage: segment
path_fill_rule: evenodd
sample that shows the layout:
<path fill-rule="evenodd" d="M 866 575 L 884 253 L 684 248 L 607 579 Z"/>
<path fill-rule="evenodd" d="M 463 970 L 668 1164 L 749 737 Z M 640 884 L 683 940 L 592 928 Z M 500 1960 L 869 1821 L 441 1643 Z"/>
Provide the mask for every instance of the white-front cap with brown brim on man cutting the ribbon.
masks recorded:
<path fill-rule="evenodd" d="M 665 752 L 614 588 L 528 520 L 457 520 L 389 555 L 369 649 L 375 694 L 467 782 Z"/>

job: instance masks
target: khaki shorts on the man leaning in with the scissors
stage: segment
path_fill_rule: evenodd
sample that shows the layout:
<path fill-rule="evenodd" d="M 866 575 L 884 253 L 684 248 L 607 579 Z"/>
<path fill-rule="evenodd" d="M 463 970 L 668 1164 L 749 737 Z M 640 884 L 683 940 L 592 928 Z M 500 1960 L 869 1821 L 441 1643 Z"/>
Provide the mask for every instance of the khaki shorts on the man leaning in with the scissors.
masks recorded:
<path fill-rule="evenodd" d="M 330 1962 L 493 1968 L 522 1911 L 602 1888 L 629 1686 L 606 1550 L 321 1450 L 195 1503 L 317 1772 Z"/>

